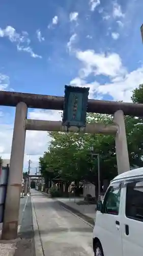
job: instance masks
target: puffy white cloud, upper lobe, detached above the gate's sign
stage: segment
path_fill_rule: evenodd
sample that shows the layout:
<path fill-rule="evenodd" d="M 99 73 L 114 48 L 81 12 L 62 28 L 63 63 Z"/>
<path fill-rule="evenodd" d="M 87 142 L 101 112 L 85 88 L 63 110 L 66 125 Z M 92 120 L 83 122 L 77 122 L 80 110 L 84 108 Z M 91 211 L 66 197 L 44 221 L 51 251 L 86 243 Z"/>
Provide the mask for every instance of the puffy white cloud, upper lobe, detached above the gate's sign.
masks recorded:
<path fill-rule="evenodd" d="M 105 75 L 115 77 L 117 74 L 125 74 L 122 60 L 117 53 L 105 54 L 95 53 L 93 50 L 76 51 L 76 57 L 83 63 L 79 71 L 80 77 L 94 75 Z"/>

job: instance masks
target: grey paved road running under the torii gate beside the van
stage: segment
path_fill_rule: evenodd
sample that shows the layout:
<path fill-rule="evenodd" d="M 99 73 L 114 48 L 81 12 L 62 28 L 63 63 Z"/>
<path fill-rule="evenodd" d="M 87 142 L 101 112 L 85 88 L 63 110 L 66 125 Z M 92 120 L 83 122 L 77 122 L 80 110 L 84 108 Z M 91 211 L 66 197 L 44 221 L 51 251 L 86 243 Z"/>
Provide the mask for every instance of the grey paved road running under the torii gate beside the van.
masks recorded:
<path fill-rule="evenodd" d="M 65 210 L 57 201 L 36 190 L 31 192 L 38 224 L 35 245 L 36 248 L 42 247 L 43 256 L 93 256 L 93 228 Z M 36 244 L 38 236 L 40 244 Z"/>

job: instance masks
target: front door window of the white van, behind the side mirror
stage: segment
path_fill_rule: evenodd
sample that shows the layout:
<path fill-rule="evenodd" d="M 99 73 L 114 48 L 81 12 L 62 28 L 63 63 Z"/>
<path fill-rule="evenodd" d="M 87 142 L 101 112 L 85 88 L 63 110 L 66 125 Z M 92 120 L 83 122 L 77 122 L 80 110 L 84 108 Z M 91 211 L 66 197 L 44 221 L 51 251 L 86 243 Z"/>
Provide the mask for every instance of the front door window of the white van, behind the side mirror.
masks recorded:
<path fill-rule="evenodd" d="M 103 211 L 105 214 L 118 215 L 122 183 L 113 183 L 105 195 Z"/>

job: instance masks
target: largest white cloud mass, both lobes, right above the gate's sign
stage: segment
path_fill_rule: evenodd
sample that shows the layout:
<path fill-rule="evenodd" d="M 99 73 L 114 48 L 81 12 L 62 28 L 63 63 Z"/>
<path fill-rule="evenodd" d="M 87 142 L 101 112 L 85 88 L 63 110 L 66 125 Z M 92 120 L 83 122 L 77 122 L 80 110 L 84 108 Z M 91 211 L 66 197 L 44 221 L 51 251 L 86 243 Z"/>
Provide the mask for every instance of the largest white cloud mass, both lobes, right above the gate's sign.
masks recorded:
<path fill-rule="evenodd" d="M 103 99 L 105 94 L 108 94 L 115 101 L 130 102 L 132 91 L 143 82 L 143 66 L 132 72 L 127 72 L 117 53 L 97 54 L 93 50 L 76 51 L 75 53 L 83 68 L 79 70 L 79 77 L 71 80 L 70 84 L 89 87 L 90 98 L 95 98 L 96 95 L 96 98 Z M 90 75 L 95 77 L 92 83 L 88 83 L 86 80 Z M 100 84 L 96 81 L 97 75 L 107 76 L 110 82 Z"/>

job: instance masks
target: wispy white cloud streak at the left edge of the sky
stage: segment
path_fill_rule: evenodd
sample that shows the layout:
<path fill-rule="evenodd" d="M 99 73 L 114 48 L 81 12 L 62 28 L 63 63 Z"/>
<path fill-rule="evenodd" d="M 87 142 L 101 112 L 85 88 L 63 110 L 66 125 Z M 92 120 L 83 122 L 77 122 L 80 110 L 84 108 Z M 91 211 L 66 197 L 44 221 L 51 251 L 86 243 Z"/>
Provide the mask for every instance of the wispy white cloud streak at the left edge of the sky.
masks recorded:
<path fill-rule="evenodd" d="M 0 37 L 8 37 L 11 42 L 15 42 L 18 51 L 28 52 L 33 58 L 41 58 L 41 56 L 34 53 L 33 49 L 29 46 L 31 40 L 28 38 L 26 31 L 22 31 L 21 34 L 18 34 L 13 27 L 7 26 L 6 29 L 0 28 Z"/>

